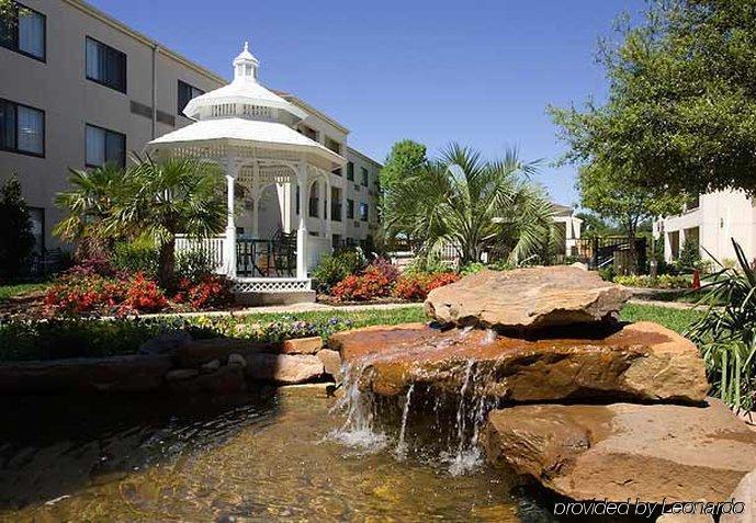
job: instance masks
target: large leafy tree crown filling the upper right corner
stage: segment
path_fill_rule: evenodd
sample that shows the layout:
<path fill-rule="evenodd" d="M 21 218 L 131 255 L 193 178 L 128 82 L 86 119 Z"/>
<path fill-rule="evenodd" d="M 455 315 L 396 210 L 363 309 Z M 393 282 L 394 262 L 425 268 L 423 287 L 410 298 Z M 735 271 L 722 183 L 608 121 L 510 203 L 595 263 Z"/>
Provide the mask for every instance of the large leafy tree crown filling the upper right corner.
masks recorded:
<path fill-rule="evenodd" d="M 568 161 L 599 162 L 654 193 L 756 190 L 756 7 L 652 0 L 600 44 L 605 104 L 550 107 Z"/>

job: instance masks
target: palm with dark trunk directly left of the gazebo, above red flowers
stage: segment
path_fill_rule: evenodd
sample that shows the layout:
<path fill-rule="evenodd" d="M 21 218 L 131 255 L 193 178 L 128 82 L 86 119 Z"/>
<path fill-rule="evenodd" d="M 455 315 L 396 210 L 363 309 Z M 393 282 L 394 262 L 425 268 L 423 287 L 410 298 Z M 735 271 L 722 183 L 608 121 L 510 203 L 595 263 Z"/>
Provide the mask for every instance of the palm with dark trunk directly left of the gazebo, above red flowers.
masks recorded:
<path fill-rule="evenodd" d="M 109 234 L 146 235 L 158 248 L 158 280 L 173 283 L 176 236 L 205 238 L 226 226 L 226 204 L 217 164 L 195 158 L 156 162 L 136 157 L 104 218 Z"/>

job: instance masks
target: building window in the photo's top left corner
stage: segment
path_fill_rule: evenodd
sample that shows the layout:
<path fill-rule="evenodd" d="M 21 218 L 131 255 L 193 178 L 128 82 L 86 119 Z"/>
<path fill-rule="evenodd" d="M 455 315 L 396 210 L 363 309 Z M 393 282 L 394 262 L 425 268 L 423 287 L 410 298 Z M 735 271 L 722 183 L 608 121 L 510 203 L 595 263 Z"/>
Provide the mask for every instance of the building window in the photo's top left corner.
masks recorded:
<path fill-rule="evenodd" d="M 0 45 L 45 61 L 47 18 L 18 2 L 9 7 L 8 16 L 0 20 Z"/>

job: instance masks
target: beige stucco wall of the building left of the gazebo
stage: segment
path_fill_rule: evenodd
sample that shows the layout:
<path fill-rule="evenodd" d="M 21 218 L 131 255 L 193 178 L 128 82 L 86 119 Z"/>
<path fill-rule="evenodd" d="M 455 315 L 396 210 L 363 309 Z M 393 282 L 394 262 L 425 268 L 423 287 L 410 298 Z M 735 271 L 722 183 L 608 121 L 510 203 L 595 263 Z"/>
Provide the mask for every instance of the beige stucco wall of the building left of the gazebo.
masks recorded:
<path fill-rule="evenodd" d="M 142 151 L 153 138 L 153 122 L 131 112 L 131 101 L 151 106 L 153 48 L 127 32 L 100 20 L 97 13 L 64 0 L 25 0 L 47 16 L 47 57 L 41 62 L 0 47 L 0 98 L 45 112 L 45 158 L 0 151 L 0 179 L 16 173 L 27 203 L 45 208 L 46 245 L 57 245 L 50 229 L 61 214 L 55 195 L 67 186 L 68 169 L 84 167 L 84 125 L 99 125 L 126 135 L 128 150 Z M 127 55 L 127 92 L 123 94 L 86 79 L 84 38 L 91 36 Z M 188 67 L 166 52 L 157 59 L 157 107 L 176 115 L 178 80 L 202 90 L 221 87 L 222 79 Z M 176 125 L 191 121 L 177 117 Z M 158 123 L 157 136 L 174 127 Z"/>

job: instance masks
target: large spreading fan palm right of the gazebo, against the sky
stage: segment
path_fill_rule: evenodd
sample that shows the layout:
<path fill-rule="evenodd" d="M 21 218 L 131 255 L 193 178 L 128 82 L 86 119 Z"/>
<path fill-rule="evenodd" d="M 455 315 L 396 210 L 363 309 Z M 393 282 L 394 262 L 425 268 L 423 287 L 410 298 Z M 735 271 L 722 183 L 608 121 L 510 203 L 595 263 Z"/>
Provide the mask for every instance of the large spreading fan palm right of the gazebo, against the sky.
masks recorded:
<path fill-rule="evenodd" d="M 485 161 L 479 152 L 452 145 L 392 189 L 386 228 L 418 242 L 420 255 L 452 245 L 465 264 L 500 246 L 508 261 L 518 263 L 555 234 L 552 204 L 530 180 L 535 167 L 521 162 L 516 149 Z"/>

